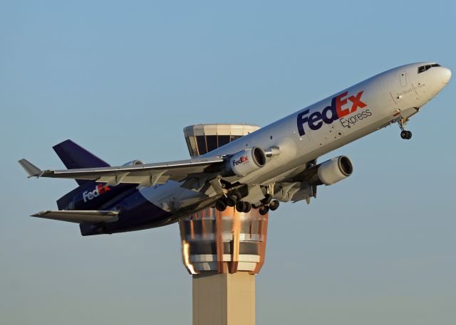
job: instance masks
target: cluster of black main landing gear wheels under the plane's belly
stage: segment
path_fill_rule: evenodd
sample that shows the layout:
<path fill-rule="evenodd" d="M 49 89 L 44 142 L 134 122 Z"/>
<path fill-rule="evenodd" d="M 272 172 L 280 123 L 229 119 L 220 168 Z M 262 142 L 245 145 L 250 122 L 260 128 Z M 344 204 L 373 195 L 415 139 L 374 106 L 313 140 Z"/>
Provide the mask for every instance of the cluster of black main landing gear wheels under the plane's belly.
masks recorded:
<path fill-rule="evenodd" d="M 218 211 L 225 211 L 227 206 L 234 206 L 236 210 L 239 212 L 250 212 L 252 208 L 259 209 L 259 214 L 265 215 L 266 213 L 271 211 L 276 211 L 279 208 L 279 201 L 273 200 L 271 194 L 266 193 L 264 198 L 261 200 L 261 204 L 259 206 L 254 206 L 252 203 L 247 201 L 242 201 L 242 195 L 238 191 L 233 191 L 229 193 L 227 196 L 222 196 L 219 198 L 215 203 L 215 208 Z"/>

